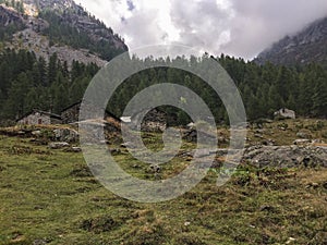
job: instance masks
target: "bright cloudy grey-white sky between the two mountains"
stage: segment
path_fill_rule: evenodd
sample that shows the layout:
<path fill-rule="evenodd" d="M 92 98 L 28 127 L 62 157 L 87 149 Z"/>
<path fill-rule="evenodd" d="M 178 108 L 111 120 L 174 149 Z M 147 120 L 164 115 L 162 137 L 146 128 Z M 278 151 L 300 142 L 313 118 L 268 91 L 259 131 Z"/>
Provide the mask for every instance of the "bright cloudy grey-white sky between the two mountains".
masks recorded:
<path fill-rule="evenodd" d="M 181 44 L 252 59 L 286 35 L 327 16 L 327 0 L 76 0 L 130 49 Z"/>

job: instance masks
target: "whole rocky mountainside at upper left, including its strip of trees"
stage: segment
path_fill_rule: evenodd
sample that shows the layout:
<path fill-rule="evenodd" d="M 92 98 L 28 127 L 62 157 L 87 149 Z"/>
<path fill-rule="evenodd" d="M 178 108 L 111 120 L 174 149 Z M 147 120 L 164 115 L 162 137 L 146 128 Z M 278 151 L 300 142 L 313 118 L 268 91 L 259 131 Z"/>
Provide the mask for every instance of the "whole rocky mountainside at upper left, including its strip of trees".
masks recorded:
<path fill-rule="evenodd" d="M 24 13 L 5 4 L 0 5 L 1 25 L 20 26 L 16 32 L 10 34 L 10 40 L 5 40 L 2 45 L 4 48 L 27 49 L 46 60 L 56 52 L 61 61 L 69 64 L 76 60 L 83 63 L 93 62 L 99 66 L 128 50 L 119 35 L 73 0 L 23 0 L 23 2 Z M 65 33 L 53 32 L 58 26 Z M 80 44 L 81 37 L 84 42 Z M 73 38 L 75 42 L 71 41 Z"/>

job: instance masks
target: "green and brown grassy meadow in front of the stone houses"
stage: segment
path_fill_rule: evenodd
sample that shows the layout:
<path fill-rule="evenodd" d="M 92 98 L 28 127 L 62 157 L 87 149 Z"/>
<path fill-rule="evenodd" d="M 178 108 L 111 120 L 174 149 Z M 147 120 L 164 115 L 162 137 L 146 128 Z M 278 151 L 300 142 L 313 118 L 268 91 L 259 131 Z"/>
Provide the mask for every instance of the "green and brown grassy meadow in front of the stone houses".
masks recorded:
<path fill-rule="evenodd" d="M 146 144 L 159 148 L 152 137 L 160 136 L 147 135 Z M 155 180 L 147 164 L 121 150 L 116 159 L 123 169 Z M 175 158 L 160 177 L 186 166 Z M 82 154 L 0 136 L 0 244 L 286 244 L 290 237 L 290 244 L 326 243 L 326 169 L 243 166 L 222 187 L 216 177 L 210 171 L 170 201 L 134 203 L 102 187 Z"/>

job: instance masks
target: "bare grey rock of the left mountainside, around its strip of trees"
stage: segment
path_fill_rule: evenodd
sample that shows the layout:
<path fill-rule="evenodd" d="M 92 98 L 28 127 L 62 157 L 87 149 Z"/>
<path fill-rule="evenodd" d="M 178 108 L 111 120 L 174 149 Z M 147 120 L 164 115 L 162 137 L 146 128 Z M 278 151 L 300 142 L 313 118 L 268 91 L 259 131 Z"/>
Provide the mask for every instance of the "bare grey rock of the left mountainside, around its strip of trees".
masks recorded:
<path fill-rule="evenodd" d="M 56 14 L 60 23 L 87 36 L 89 42 L 106 44 L 106 47 L 109 44 L 112 53 L 128 51 L 126 45 L 110 27 L 108 28 L 104 23 L 88 14 L 73 0 L 23 0 L 23 2 L 24 15 L 4 4 L 0 5 L 0 24 L 2 26 L 14 24 L 19 27 L 13 34 L 12 40 L 5 44 L 5 48 L 26 49 L 35 52 L 36 57 L 43 57 L 46 60 L 57 53 L 59 60 L 66 61 L 69 66 L 74 60 L 86 64 L 96 63 L 98 66 L 104 66 L 108 62 L 108 60 L 104 60 L 105 58 L 100 59 L 99 53 L 86 48 L 73 48 L 70 44 L 50 41 L 47 29 L 53 23 L 39 17 L 41 16 L 40 13 L 50 11 Z"/>

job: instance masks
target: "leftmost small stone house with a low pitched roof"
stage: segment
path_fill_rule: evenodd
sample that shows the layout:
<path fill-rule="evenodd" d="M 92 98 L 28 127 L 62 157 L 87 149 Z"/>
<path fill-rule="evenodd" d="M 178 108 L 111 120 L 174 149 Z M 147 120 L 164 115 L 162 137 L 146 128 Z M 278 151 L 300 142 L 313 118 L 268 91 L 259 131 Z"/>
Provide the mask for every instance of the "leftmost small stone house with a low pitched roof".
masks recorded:
<path fill-rule="evenodd" d="M 32 112 L 16 120 L 16 122 L 19 125 L 61 124 L 61 117 L 50 112 L 34 109 Z"/>

